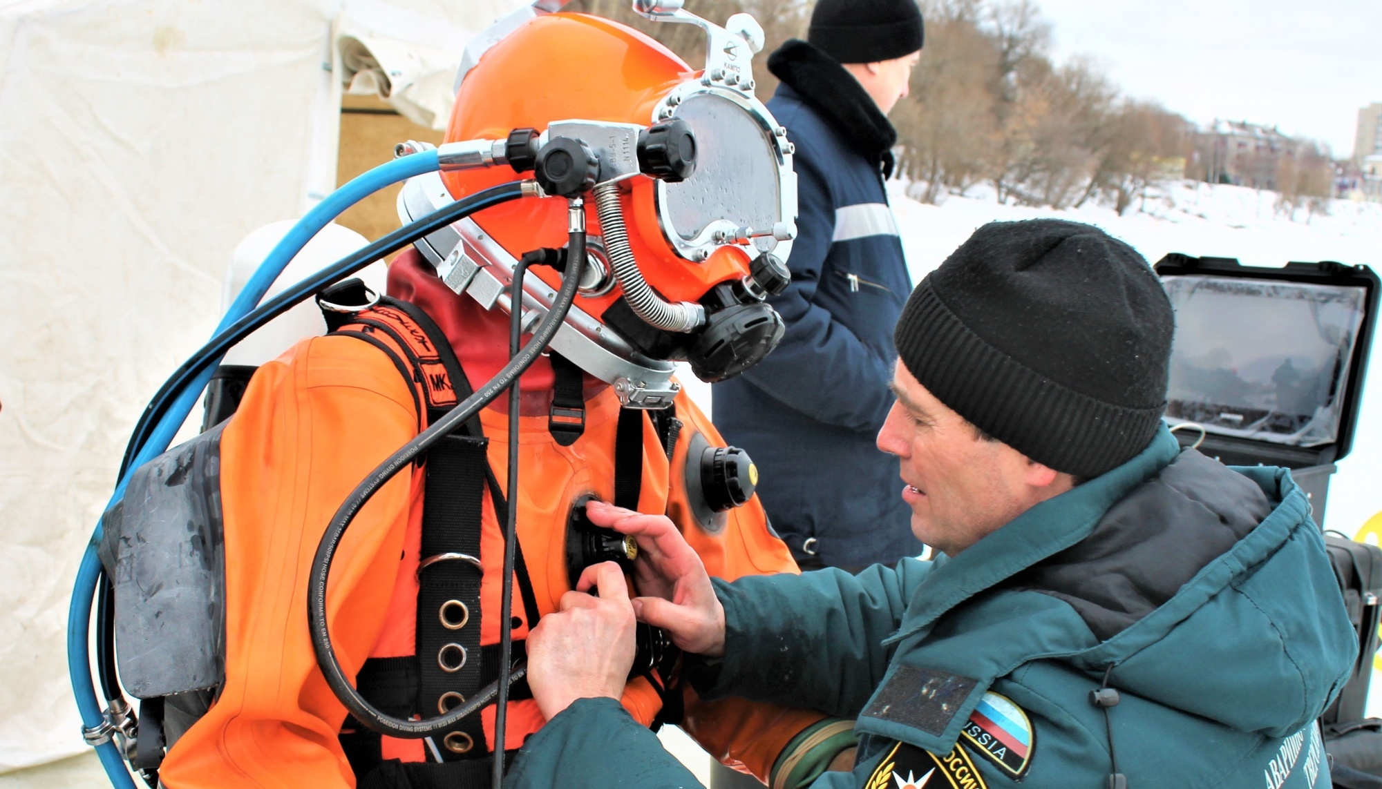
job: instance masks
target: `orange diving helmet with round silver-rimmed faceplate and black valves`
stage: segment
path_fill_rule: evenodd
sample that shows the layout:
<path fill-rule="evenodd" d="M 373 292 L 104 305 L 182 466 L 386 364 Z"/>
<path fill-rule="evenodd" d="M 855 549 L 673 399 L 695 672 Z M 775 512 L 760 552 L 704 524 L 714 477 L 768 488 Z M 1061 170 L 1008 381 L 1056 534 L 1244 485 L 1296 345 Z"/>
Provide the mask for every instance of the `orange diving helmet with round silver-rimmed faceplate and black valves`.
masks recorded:
<path fill-rule="evenodd" d="M 703 381 L 723 381 L 782 337 L 763 298 L 789 281 L 792 143 L 753 95 L 750 61 L 763 29 L 748 14 L 731 17 L 727 29 L 680 1 L 636 0 L 650 19 L 705 30 L 706 66 L 692 70 L 637 30 L 557 12 L 564 4 L 538 0 L 466 50 L 438 150 L 444 171 L 408 181 L 399 217 L 419 219 L 536 164 L 543 196 L 417 243 L 453 291 L 507 313 L 518 258 L 567 240 L 558 194 L 593 182 L 587 265 L 551 348 L 612 385 L 625 407 L 662 408 L 680 388 L 674 360 L 690 361 Z M 545 157 L 553 157 L 547 167 Z M 560 284 L 556 272 L 532 273 L 525 326 L 546 313 Z"/>

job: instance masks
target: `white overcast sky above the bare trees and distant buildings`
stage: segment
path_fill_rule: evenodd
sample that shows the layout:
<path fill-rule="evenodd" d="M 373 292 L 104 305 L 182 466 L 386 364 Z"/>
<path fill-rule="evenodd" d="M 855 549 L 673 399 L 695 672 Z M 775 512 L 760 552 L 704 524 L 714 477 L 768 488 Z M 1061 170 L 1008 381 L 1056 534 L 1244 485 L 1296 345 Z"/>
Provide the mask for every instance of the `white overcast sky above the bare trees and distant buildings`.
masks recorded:
<path fill-rule="evenodd" d="M 1057 58 L 1092 55 L 1125 94 L 1186 117 L 1277 124 L 1353 152 L 1382 102 L 1382 0 L 1035 0 Z"/>

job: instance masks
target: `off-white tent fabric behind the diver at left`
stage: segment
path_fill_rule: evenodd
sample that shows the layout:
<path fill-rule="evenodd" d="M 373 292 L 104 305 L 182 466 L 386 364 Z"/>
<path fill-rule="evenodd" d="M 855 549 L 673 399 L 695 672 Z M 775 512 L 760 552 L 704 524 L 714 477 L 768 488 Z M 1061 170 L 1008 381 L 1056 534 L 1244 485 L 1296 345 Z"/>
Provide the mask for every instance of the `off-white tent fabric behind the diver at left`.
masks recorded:
<path fill-rule="evenodd" d="M 146 399 L 214 328 L 236 243 L 333 186 L 334 32 L 380 50 L 410 117 L 445 119 L 449 87 L 427 86 L 517 4 L 0 0 L 0 772 L 84 749 L 77 559 Z"/>

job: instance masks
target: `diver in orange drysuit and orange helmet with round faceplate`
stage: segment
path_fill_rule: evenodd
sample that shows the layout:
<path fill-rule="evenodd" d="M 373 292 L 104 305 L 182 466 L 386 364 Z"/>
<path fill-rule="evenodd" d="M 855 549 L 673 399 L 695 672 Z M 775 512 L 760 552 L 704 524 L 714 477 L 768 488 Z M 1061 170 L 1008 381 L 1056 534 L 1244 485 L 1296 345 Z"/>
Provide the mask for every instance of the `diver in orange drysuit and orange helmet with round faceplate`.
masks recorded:
<path fill-rule="evenodd" d="M 672 117 L 695 132 L 694 150 L 683 143 L 681 154 L 694 154 L 701 181 L 673 189 L 625 178 L 597 186 L 586 207 L 591 233 L 604 233 L 603 248 L 591 244 L 590 283 L 582 279 L 565 339 L 558 337 L 553 354 L 520 385 L 515 644 L 538 617 L 556 610 L 572 574 L 611 549 L 600 535 L 587 539 L 583 497 L 666 512 L 714 575 L 796 571 L 752 498 L 752 463 L 723 450 L 709 419 L 679 393 L 666 361 L 690 356 L 698 372 L 727 377 L 781 337 L 781 321 L 759 299 L 782 270 L 768 251 L 792 236 L 789 143 L 752 97 L 750 80 L 748 90 L 744 80 L 712 80 L 710 63 L 694 73 L 656 43 L 605 19 L 531 15 L 463 73 L 448 142 L 502 138 L 521 127 L 554 132 L 556 121 L 571 117 L 626 124 Z M 719 74 L 746 66 L 752 28 L 728 34 L 698 23 L 712 37 L 712 58 L 742 57 L 717 66 Z M 583 134 L 594 139 L 600 130 Z M 514 178 L 507 167 L 489 167 L 415 179 L 399 199 L 401 212 L 416 218 L 433 196 L 459 197 Z M 713 189 L 713 178 L 732 181 Z M 731 188 L 748 196 L 735 197 Z M 708 203 L 706 193 L 719 203 Z M 185 730 L 164 719 L 163 785 L 488 785 L 498 746 L 493 706 L 422 739 L 379 735 L 347 717 L 314 657 L 308 568 L 323 526 L 352 487 L 509 360 L 513 305 L 495 286 L 506 284 L 506 266 L 518 255 L 560 247 L 565 208 L 557 199 L 522 199 L 457 222 L 451 236 L 427 237 L 391 263 L 391 298 L 351 301 L 362 288 L 348 286 L 323 292 L 333 331 L 254 372 L 220 433 L 225 679 Z M 749 221 L 770 229 L 755 233 Z M 619 239 L 625 222 L 627 237 Z M 641 290 L 619 268 L 625 252 L 647 280 Z M 557 281 L 547 269 L 528 273 L 535 314 Z M 701 323 L 650 326 L 645 306 L 641 313 L 627 306 L 634 294 L 652 294 L 647 298 Z M 326 597 L 336 655 L 359 692 L 398 717 L 445 713 L 498 675 L 499 499 L 511 495 L 500 484 L 509 429 L 502 407 L 484 410 L 455 451 L 433 450 L 426 463 L 384 484 L 336 553 Z M 822 761 L 815 752 L 822 746 L 832 748 L 826 763 L 840 749 L 846 721 L 739 699 L 699 702 L 677 684 L 674 655 L 656 635 L 648 636 L 648 650 L 623 697 L 641 723 L 680 723 L 717 759 L 775 786 L 792 785 L 799 766 Z M 507 752 L 545 723 L 515 688 Z"/>

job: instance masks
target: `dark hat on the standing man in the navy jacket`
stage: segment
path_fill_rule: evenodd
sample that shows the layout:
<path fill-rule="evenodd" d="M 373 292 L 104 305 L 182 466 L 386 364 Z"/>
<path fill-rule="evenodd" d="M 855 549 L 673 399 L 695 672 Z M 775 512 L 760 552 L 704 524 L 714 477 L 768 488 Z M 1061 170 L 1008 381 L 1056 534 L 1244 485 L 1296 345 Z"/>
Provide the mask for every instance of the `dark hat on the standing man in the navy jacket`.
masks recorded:
<path fill-rule="evenodd" d="M 806 40 L 840 63 L 875 63 L 922 48 L 916 0 L 820 0 Z"/>

